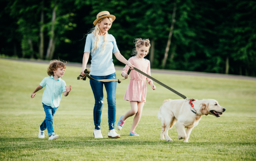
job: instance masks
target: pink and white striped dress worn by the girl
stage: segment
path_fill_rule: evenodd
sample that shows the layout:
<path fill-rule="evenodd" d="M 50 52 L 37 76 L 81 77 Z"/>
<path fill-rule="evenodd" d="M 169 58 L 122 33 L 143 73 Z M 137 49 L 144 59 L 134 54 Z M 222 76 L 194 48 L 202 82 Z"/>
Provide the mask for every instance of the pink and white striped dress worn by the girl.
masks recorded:
<path fill-rule="evenodd" d="M 139 58 L 134 56 L 134 57 L 131 57 L 128 61 L 131 64 L 133 64 L 135 68 L 150 75 L 149 60 L 147 59 L 140 60 Z M 126 65 L 122 73 L 123 72 L 127 73 L 128 70 L 129 70 L 129 67 L 128 65 Z M 124 100 L 146 102 L 146 80 L 148 81 L 148 83 L 152 81 L 148 77 L 140 74 L 135 70 L 130 71 L 130 82 L 127 87 L 126 93 L 124 95 Z"/>

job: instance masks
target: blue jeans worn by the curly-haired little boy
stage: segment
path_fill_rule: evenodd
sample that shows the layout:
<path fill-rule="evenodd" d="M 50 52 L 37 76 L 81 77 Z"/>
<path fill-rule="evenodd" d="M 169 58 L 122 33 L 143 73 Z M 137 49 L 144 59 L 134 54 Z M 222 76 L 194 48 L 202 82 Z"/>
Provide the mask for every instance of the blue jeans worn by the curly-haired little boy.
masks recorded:
<path fill-rule="evenodd" d="M 54 116 L 55 112 L 57 111 L 58 107 L 52 108 L 50 106 L 43 104 L 43 108 L 44 108 L 44 112 L 46 113 L 46 118 L 40 125 L 40 130 L 44 131 L 47 128 L 48 136 L 55 135 L 52 123 L 53 123 L 53 116 Z"/>

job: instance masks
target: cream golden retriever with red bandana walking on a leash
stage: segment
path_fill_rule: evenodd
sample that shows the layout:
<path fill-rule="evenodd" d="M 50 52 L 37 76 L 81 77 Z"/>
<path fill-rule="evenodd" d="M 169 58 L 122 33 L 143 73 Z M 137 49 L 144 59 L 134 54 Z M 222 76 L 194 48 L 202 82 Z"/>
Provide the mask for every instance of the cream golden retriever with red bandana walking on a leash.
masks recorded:
<path fill-rule="evenodd" d="M 198 125 L 203 115 L 220 117 L 225 110 L 214 99 L 194 100 L 193 102 L 186 99 L 164 100 L 158 112 L 158 119 L 163 125 L 161 139 L 172 141 L 168 136 L 168 130 L 177 122 L 178 139 L 184 139 L 183 142 L 188 143 L 192 129 Z"/>

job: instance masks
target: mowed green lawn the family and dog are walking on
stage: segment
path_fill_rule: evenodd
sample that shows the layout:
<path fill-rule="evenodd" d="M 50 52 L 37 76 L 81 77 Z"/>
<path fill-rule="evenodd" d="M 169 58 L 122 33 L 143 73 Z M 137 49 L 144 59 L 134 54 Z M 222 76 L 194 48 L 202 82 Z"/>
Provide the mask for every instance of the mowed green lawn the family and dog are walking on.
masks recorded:
<path fill-rule="evenodd" d="M 161 122 L 156 117 L 164 99 L 179 96 L 156 84 L 148 86 L 146 103 L 136 132 L 129 136 L 133 117 L 127 119 L 119 139 L 107 138 L 107 99 L 101 116 L 103 139 L 94 139 L 92 111 L 94 96 L 89 80 L 76 80 L 81 68 L 67 65 L 63 76 L 72 86 L 62 96 L 53 127 L 59 139 L 38 139 L 38 127 L 45 117 L 43 90 L 31 93 L 44 77 L 48 64 L 0 59 L 0 160 L 256 160 L 256 82 L 220 77 L 152 73 L 151 75 L 188 98 L 216 99 L 226 111 L 217 118 L 203 116 L 190 136 L 190 143 L 178 140 L 175 126 L 169 130 L 172 142 L 160 140 Z M 116 71 L 121 78 L 121 71 Z M 117 117 L 130 109 L 123 100 L 129 80 L 117 85 Z M 46 130 L 47 134 L 47 130 Z"/>

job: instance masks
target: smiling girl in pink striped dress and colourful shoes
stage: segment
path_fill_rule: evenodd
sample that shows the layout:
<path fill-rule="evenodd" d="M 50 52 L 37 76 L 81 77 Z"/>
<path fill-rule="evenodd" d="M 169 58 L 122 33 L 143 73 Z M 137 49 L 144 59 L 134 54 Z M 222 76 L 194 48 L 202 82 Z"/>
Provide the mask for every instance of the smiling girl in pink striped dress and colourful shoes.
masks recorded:
<path fill-rule="evenodd" d="M 144 73 L 150 75 L 150 62 L 144 57 L 148 54 L 150 43 L 148 39 L 135 39 L 135 48 L 133 50 L 134 57 L 131 57 L 128 61 L 134 65 L 135 68 L 143 71 Z M 126 65 L 122 71 L 122 76 L 128 78 L 127 72 L 129 70 L 128 65 Z M 131 78 L 129 85 L 127 87 L 126 93 L 124 95 L 124 100 L 130 101 L 131 110 L 129 110 L 125 115 L 122 115 L 117 122 L 117 130 L 121 130 L 124 122 L 130 116 L 134 116 L 132 128 L 130 129 L 131 136 L 139 136 L 135 133 L 135 128 L 139 123 L 142 109 L 144 103 L 146 102 L 146 80 L 151 85 L 152 89 L 155 90 L 156 87 L 153 81 L 148 77 L 138 73 L 135 70 L 130 72 Z"/>

